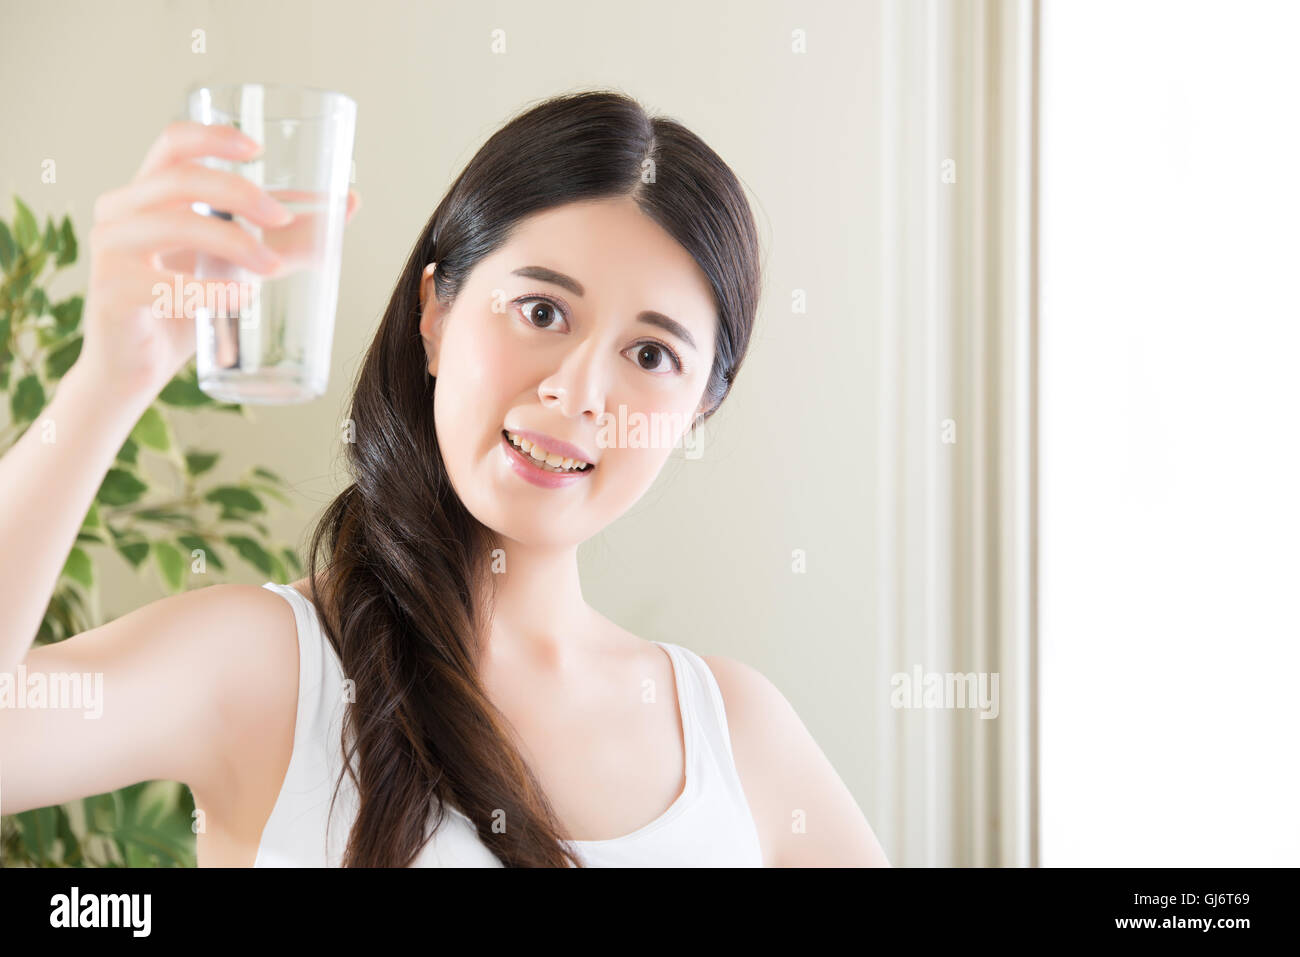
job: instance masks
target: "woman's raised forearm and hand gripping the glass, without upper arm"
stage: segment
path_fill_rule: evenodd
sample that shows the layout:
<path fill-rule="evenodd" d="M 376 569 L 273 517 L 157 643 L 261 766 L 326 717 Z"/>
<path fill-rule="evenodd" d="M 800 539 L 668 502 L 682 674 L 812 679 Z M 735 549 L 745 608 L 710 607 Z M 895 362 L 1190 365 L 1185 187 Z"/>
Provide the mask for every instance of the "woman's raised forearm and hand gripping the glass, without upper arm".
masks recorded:
<path fill-rule="evenodd" d="M 248 230 L 190 208 L 208 202 L 261 225 L 281 221 L 282 207 L 255 183 L 192 161 L 247 159 L 254 150 L 246 144 L 256 147 L 234 127 L 173 124 L 135 179 L 95 203 L 81 355 L 40 419 L 0 459 L 0 671 L 22 661 L 35 638 L 118 449 L 194 355 L 194 319 L 153 315 L 155 283 L 170 287 L 176 276 L 162 257 L 192 269 L 194 251 L 203 251 L 259 273 L 278 264 Z M 182 282 L 196 281 L 179 272 Z"/>

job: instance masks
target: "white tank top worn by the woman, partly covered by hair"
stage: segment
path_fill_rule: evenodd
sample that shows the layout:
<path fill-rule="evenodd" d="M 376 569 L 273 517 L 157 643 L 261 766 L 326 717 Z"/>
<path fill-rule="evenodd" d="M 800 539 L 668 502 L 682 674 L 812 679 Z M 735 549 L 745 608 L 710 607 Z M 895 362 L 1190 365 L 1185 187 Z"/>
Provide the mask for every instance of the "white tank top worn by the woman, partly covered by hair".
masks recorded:
<path fill-rule="evenodd" d="M 316 607 L 298 589 L 268 581 L 298 624 L 298 716 L 289 770 L 257 845 L 255 867 L 337 867 L 359 806 L 343 775 L 326 841 L 326 817 L 342 770 L 343 671 Z M 736 774 L 722 692 L 694 651 L 656 641 L 672 659 L 686 784 L 649 824 L 603 841 L 569 841 L 588 867 L 760 867 L 762 852 L 749 802 Z M 430 810 L 430 824 L 433 813 Z M 413 867 L 500 867 L 473 823 L 450 807 Z"/>

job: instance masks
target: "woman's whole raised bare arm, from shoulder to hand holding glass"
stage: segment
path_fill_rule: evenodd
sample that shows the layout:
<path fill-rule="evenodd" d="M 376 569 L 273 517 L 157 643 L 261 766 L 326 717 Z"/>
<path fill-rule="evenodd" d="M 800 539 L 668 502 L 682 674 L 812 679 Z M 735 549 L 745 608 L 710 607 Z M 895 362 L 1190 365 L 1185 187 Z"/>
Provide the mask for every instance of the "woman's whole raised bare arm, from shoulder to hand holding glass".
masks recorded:
<path fill-rule="evenodd" d="M 240 653 L 257 654 L 254 642 L 265 645 L 266 629 L 292 627 L 283 599 L 254 586 L 173 596 L 30 650 L 117 451 L 194 354 L 192 317 L 156 317 L 155 283 L 172 286 L 178 273 L 182 282 L 199 281 L 188 274 L 195 252 L 261 274 L 280 267 L 248 230 L 190 205 L 208 203 L 263 226 L 285 221 L 287 212 L 248 179 L 195 163 L 246 160 L 256 152 L 250 143 L 233 127 L 173 124 L 135 178 L 95 204 L 82 352 L 51 404 L 0 459 L 0 672 L 23 664 L 29 675 L 88 674 L 90 687 L 101 681 L 103 710 L 94 718 L 0 703 L 0 813 L 136 780 L 216 779 L 212 735 L 256 720 L 283 694 L 283 681 L 237 671 L 256 659 Z M 296 649 L 274 654 L 296 661 Z M 17 677 L 12 687 L 23 693 Z"/>

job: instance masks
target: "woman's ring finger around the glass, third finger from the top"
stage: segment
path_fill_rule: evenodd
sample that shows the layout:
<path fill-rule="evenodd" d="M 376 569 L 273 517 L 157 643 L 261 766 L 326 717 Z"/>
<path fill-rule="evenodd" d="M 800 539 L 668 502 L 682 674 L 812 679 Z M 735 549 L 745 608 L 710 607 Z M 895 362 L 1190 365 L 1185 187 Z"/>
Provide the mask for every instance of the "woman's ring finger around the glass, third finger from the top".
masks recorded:
<path fill-rule="evenodd" d="M 96 222 L 90 238 L 100 260 L 105 252 L 152 259 L 194 250 L 257 273 L 270 274 L 283 265 L 274 252 L 234 221 L 203 216 L 191 209 L 153 209 L 116 222 Z"/>

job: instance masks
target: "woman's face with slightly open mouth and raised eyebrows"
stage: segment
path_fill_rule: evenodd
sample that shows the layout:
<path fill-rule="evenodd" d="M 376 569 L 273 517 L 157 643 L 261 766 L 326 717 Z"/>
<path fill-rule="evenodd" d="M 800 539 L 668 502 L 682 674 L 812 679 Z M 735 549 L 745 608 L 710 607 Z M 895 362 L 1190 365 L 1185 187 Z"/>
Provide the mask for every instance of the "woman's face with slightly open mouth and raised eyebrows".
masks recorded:
<path fill-rule="evenodd" d="M 428 270 L 421 302 L 452 488 L 514 541 L 590 538 L 645 494 L 702 411 L 716 334 L 708 280 L 632 199 L 530 216 L 450 308 Z M 540 438 L 512 451 L 503 432 L 515 430 Z M 542 437 L 594 468 L 540 469 L 538 446 L 568 454 Z"/>

